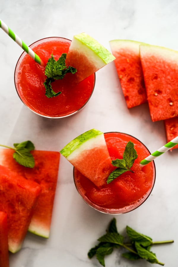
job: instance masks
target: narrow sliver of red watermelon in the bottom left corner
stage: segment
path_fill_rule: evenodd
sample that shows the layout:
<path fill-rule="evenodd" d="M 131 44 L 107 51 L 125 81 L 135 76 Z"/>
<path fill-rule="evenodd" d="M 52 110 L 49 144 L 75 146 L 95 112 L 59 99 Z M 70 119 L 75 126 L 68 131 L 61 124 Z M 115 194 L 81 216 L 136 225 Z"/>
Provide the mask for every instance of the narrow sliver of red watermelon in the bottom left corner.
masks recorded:
<path fill-rule="evenodd" d="M 7 213 L 0 211 L 0 266 L 9 267 Z"/>

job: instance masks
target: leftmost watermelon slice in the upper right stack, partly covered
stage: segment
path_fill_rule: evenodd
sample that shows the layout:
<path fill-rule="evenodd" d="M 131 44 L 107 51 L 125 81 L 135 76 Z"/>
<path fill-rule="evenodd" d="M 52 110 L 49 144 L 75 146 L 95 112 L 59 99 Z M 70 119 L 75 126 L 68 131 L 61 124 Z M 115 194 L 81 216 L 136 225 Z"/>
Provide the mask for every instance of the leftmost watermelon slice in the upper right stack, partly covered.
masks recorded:
<path fill-rule="evenodd" d="M 109 42 L 115 56 L 115 67 L 123 90 L 127 107 L 138 106 L 147 102 L 139 45 L 131 40 L 112 40 Z"/>

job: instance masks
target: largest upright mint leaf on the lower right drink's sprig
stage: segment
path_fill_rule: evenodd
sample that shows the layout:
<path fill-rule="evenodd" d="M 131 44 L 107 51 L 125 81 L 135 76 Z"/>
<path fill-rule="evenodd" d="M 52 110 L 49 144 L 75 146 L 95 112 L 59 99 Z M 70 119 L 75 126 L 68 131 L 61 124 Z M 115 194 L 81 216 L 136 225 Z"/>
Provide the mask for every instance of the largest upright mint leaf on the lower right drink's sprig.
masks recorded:
<path fill-rule="evenodd" d="M 134 143 L 129 141 L 126 144 L 124 154 L 123 154 L 123 159 L 125 160 L 126 167 L 128 169 L 130 169 L 133 166 L 134 160 L 136 160 L 137 157 L 138 157 L 138 155 L 137 155 L 137 152 L 134 148 Z"/>

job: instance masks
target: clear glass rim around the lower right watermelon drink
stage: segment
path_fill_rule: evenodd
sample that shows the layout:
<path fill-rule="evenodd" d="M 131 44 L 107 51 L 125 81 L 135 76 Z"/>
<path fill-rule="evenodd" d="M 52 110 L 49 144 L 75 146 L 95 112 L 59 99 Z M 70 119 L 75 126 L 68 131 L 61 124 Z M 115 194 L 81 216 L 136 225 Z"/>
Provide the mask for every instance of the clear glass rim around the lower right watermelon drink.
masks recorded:
<path fill-rule="evenodd" d="M 139 141 L 146 149 L 147 151 L 150 153 L 150 150 L 147 148 L 147 146 L 142 142 L 140 141 L 138 138 L 136 138 L 135 136 L 131 135 L 131 134 L 126 134 L 124 132 L 118 132 L 118 131 L 109 131 L 109 132 L 104 132 L 104 134 L 109 134 L 109 133 L 118 133 L 118 134 L 124 134 L 126 136 L 131 136 L 132 138 L 136 139 L 137 141 Z M 151 154 L 151 153 L 150 153 Z M 97 204 L 94 204 L 92 201 L 90 201 L 87 197 L 85 197 L 84 194 L 81 193 L 81 191 L 79 190 L 79 188 L 77 187 L 77 184 L 75 182 L 75 170 L 77 170 L 75 167 L 73 167 L 73 179 L 74 179 L 74 185 L 76 187 L 76 190 L 78 192 L 78 194 L 80 195 L 80 197 L 85 201 L 86 204 L 88 204 L 90 207 L 92 207 L 93 209 L 101 212 L 101 213 L 104 213 L 104 214 L 115 214 L 115 215 L 119 215 L 119 214 L 125 214 L 125 213 L 128 213 L 128 212 L 131 212 L 135 209 L 137 209 L 138 207 L 140 207 L 146 200 L 147 198 L 150 196 L 153 188 L 154 188 L 154 185 L 155 185 L 155 180 L 156 180 L 156 167 L 155 167 L 155 162 L 154 160 L 151 161 L 152 163 L 152 166 L 153 166 L 153 178 L 152 178 L 152 187 L 150 188 L 150 190 L 148 190 L 144 196 L 142 198 L 139 198 L 137 201 L 134 201 L 133 204 L 131 205 L 127 205 L 123 208 L 120 208 L 120 209 L 111 209 L 111 208 L 104 208 L 102 206 L 99 206 Z"/>

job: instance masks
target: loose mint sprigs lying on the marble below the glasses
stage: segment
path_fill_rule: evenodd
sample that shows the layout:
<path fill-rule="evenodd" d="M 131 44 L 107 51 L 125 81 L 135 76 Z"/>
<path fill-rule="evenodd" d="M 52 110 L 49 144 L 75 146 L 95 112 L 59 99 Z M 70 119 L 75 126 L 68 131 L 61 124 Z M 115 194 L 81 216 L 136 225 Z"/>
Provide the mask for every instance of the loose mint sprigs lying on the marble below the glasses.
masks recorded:
<path fill-rule="evenodd" d="M 128 252 L 122 254 L 124 258 L 129 260 L 145 259 L 150 263 L 157 263 L 163 266 L 164 263 L 156 258 L 155 253 L 151 252 L 150 248 L 154 244 L 174 242 L 173 240 L 153 242 L 150 237 L 138 233 L 129 226 L 126 226 L 126 233 L 130 239 L 130 243 L 125 243 L 124 236 L 120 235 L 117 231 L 115 218 L 110 222 L 106 232 L 105 235 L 98 239 L 99 244 L 91 248 L 88 252 L 88 258 L 91 259 L 96 255 L 97 260 L 102 266 L 105 266 L 105 256 L 110 255 L 114 249 L 119 249 L 120 247 L 128 250 Z"/>

